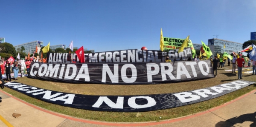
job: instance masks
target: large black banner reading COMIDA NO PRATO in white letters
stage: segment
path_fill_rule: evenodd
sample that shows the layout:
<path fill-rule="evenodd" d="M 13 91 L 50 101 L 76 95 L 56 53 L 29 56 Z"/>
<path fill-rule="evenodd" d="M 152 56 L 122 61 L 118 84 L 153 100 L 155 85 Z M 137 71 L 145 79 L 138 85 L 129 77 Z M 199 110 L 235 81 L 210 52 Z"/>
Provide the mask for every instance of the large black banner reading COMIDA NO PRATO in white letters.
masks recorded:
<path fill-rule="evenodd" d="M 72 83 L 156 84 L 213 78 L 210 60 L 134 63 L 40 63 L 30 66 L 29 77 Z"/>

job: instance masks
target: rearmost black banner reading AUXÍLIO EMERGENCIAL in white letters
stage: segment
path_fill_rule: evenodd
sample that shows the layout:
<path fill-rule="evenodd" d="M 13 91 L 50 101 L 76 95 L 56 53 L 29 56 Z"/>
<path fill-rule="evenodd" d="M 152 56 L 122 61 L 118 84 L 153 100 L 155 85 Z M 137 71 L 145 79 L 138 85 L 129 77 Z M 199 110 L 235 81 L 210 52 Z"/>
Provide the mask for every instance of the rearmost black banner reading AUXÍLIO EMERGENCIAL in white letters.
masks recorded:
<path fill-rule="evenodd" d="M 156 50 L 142 51 L 140 49 L 107 51 L 99 53 L 84 54 L 85 62 L 164 62 L 165 56 L 169 56 L 171 61 L 186 60 L 192 57 L 191 47 L 184 48 L 183 52 L 178 50 L 162 52 Z M 79 62 L 76 54 L 47 53 L 47 62 L 70 63 L 72 59 Z"/>

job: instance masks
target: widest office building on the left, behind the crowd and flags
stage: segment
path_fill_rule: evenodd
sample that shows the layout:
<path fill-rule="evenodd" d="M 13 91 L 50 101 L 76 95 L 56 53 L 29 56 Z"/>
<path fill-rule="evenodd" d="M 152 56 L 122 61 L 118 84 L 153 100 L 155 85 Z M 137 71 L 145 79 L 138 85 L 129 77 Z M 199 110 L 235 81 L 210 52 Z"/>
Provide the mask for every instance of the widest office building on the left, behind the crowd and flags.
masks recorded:
<path fill-rule="evenodd" d="M 33 42 L 28 42 L 28 43 L 24 43 L 24 44 L 21 44 L 21 45 L 15 45 L 14 48 L 16 51 L 20 51 L 21 50 L 21 47 L 23 46 L 25 48 L 25 53 L 28 54 L 32 54 L 35 52 L 35 47 L 43 47 L 44 45 L 44 42 L 42 41 L 33 41 Z"/>

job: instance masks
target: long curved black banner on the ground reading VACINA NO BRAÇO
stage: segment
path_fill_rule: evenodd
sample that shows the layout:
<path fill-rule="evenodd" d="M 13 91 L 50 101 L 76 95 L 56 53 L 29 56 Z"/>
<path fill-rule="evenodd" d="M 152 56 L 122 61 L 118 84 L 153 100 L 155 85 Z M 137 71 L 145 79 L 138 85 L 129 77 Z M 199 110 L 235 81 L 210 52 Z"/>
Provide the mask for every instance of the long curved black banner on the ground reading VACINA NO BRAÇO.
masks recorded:
<path fill-rule="evenodd" d="M 180 107 L 213 99 L 227 93 L 247 87 L 255 82 L 237 80 L 214 87 L 191 90 L 180 93 L 166 93 L 137 96 L 90 96 L 45 90 L 18 82 L 5 85 L 33 98 L 84 110 L 111 112 L 144 112 Z"/>

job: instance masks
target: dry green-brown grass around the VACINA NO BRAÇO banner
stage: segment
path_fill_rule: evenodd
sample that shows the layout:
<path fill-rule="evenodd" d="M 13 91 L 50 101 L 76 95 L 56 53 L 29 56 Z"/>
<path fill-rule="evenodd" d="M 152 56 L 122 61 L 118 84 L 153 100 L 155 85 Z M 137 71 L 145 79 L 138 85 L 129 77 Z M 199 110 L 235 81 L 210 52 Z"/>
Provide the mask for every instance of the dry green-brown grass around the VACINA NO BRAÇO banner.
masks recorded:
<path fill-rule="evenodd" d="M 227 64 L 226 64 L 227 65 Z M 228 68 L 225 66 L 225 68 Z M 227 69 L 226 69 L 227 70 Z M 250 70 L 243 70 L 250 71 Z M 205 87 L 211 87 L 226 82 L 236 80 L 237 74 L 224 71 L 224 69 L 218 70 L 216 78 L 197 80 L 191 82 L 180 82 L 170 84 L 158 84 L 158 85 L 102 85 L 102 84 L 70 84 L 62 82 L 49 82 L 37 79 L 19 78 L 17 82 L 40 87 L 48 90 L 55 90 L 67 93 L 87 94 L 87 95 L 146 95 L 146 94 L 160 94 L 160 93 L 176 93 L 187 90 L 196 90 Z M 243 73 L 243 80 L 256 82 L 256 76 Z M 52 110 L 54 112 L 62 113 L 69 116 L 74 116 L 82 119 L 91 119 L 98 121 L 112 121 L 112 122 L 141 122 L 141 121 L 160 121 L 164 119 L 172 119 L 181 116 L 187 116 L 190 114 L 198 113 L 219 106 L 226 102 L 230 102 L 233 99 L 238 98 L 245 93 L 249 93 L 251 90 L 256 89 L 255 85 L 236 90 L 232 93 L 228 93 L 224 96 L 220 96 L 215 99 L 211 99 L 196 104 L 190 104 L 182 107 L 176 107 L 166 110 L 155 110 L 149 112 L 140 113 L 119 113 L 119 112 L 99 112 L 90 110 L 81 110 L 71 107 L 64 107 L 56 104 L 43 102 L 38 99 L 26 96 L 15 90 L 4 88 L 7 93 L 16 96 L 31 104 Z M 160 119 L 161 117 L 161 119 Z"/>

